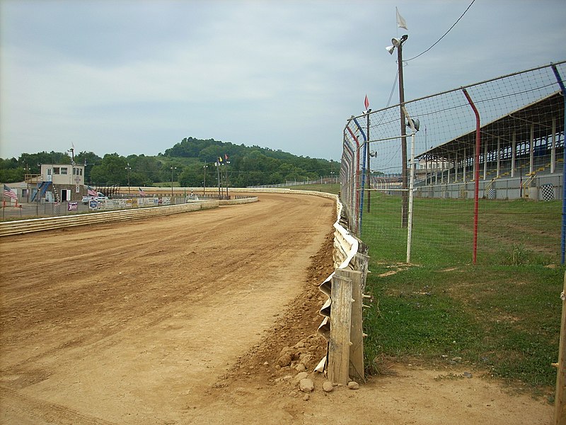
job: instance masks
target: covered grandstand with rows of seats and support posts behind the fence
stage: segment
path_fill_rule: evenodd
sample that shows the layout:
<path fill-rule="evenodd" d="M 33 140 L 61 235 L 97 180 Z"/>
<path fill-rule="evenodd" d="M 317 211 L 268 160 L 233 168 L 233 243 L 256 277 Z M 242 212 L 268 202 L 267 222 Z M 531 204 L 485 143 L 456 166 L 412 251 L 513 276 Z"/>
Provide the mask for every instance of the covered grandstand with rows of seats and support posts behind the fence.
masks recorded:
<path fill-rule="evenodd" d="M 483 125 L 480 197 L 560 198 L 556 189 L 563 174 L 564 113 L 557 91 Z M 417 155 L 416 195 L 469 198 L 474 152 L 475 130 Z M 374 184 L 379 188 L 379 179 Z"/>

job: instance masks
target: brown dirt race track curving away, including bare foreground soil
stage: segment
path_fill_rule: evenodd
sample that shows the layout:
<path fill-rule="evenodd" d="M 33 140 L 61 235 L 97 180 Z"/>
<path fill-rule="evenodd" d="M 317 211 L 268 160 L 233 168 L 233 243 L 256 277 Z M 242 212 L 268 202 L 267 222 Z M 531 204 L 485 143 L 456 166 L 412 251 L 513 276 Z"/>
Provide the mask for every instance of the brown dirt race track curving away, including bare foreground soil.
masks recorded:
<path fill-rule="evenodd" d="M 323 392 L 333 203 L 259 198 L 1 239 L 0 423 L 550 424 L 478 371 L 396 364 Z M 277 366 L 285 346 L 313 392 Z"/>

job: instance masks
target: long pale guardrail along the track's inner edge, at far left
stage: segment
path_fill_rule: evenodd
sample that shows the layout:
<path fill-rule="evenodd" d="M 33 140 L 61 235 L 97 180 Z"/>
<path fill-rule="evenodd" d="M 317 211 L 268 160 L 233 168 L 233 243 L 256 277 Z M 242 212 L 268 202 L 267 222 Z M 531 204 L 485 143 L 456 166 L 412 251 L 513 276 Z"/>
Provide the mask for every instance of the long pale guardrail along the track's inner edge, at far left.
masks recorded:
<path fill-rule="evenodd" d="M 180 212 L 207 210 L 209 208 L 217 208 L 218 206 L 218 200 L 203 200 L 180 205 L 139 208 L 136 210 L 114 210 L 105 212 L 92 212 L 90 214 L 81 215 L 34 218 L 30 220 L 15 220 L 11 222 L 0 223 L 0 237 L 9 236 L 11 234 L 23 234 L 30 232 L 41 232 L 43 230 L 60 229 L 62 227 L 93 225 L 100 222 L 137 220 L 140 218 L 154 217 L 157 215 L 170 215 L 178 214 Z"/>

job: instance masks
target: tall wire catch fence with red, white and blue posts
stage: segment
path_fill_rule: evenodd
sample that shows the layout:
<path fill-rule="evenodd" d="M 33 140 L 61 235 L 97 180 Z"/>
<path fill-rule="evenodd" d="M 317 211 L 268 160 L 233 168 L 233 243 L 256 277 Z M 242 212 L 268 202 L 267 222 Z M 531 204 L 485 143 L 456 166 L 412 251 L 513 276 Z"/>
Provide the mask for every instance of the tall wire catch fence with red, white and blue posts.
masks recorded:
<path fill-rule="evenodd" d="M 394 261 L 556 261 L 565 63 L 352 116 L 340 179 L 354 233 Z"/>

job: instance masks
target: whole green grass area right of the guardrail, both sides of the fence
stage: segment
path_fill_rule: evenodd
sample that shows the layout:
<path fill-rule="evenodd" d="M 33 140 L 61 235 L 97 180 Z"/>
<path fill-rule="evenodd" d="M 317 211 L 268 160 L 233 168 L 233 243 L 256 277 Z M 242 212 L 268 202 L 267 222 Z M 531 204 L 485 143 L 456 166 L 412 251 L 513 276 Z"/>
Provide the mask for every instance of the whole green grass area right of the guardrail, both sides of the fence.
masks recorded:
<path fill-rule="evenodd" d="M 483 201 L 474 266 L 473 204 L 415 199 L 408 266 L 400 200 L 372 196 L 371 202 L 362 229 L 371 257 L 366 293 L 375 300 L 364 313 L 369 373 L 379 373 L 384 358 L 427 365 L 456 358 L 466 368 L 552 394 L 565 273 L 558 266 L 559 204 Z"/>

